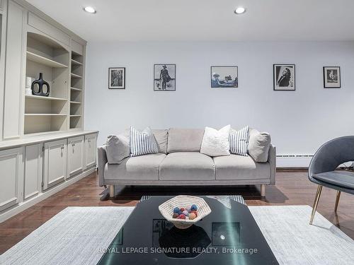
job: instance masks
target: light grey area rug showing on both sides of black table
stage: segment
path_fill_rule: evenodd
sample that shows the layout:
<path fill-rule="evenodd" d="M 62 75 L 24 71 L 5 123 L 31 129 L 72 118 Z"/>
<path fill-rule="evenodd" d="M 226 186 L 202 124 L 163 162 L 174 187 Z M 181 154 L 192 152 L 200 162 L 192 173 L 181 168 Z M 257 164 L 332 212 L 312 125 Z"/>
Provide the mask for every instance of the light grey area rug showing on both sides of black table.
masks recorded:
<path fill-rule="evenodd" d="M 134 207 L 68 207 L 0 264 L 96 264 Z M 354 241 L 309 206 L 249 206 L 280 264 L 354 264 Z"/>

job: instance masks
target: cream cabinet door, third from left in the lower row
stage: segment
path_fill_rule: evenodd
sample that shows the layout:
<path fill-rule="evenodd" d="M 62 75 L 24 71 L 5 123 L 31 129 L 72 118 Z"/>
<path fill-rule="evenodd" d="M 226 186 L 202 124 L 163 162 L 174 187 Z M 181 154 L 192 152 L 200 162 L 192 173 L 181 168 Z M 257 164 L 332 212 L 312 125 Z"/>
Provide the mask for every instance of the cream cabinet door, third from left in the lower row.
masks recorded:
<path fill-rule="evenodd" d="M 67 139 L 45 143 L 43 189 L 67 178 Z"/>

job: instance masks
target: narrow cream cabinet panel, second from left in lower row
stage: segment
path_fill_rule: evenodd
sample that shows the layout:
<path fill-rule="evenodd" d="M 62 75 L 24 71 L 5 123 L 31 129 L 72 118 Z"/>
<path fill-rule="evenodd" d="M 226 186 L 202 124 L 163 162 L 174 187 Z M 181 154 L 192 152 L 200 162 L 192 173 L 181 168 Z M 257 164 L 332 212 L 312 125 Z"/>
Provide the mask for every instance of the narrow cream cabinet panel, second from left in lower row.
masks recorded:
<path fill-rule="evenodd" d="M 28 199 L 40 193 L 42 186 L 42 143 L 25 147 L 25 196 Z"/>

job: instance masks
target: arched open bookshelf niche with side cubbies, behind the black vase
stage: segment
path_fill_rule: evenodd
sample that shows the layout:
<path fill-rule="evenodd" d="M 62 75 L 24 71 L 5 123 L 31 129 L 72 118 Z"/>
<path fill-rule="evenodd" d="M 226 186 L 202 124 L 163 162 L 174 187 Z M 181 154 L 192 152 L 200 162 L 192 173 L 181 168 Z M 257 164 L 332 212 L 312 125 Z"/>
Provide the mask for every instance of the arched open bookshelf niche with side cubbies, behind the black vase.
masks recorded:
<path fill-rule="evenodd" d="M 50 95 L 25 95 L 24 134 L 82 129 L 84 54 L 28 32 L 25 76 L 38 79 L 40 73 Z"/>

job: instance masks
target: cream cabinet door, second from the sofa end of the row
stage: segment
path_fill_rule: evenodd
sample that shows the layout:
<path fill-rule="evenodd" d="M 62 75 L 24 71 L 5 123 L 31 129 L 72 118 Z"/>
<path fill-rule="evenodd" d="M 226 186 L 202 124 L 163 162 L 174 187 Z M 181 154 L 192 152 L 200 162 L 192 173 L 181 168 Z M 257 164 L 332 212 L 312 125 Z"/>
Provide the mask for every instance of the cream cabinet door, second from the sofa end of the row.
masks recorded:
<path fill-rule="evenodd" d="M 72 177 L 84 170 L 84 136 L 68 140 L 68 177 Z"/>

